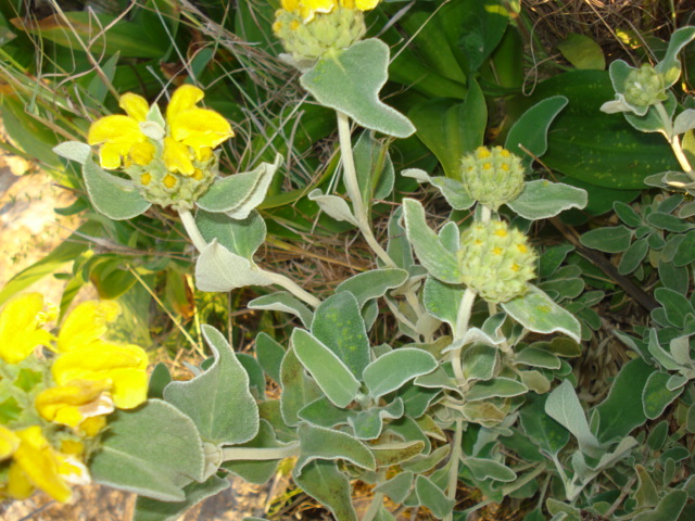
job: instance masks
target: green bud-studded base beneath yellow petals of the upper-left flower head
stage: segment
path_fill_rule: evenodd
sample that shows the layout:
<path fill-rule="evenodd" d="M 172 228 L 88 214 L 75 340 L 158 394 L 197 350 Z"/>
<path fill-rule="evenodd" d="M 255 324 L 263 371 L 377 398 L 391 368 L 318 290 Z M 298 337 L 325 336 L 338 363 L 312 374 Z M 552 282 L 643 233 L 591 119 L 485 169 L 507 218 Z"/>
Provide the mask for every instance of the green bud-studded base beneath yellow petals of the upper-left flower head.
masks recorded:
<path fill-rule="evenodd" d="M 186 176 L 169 170 L 159 154 L 150 164 L 131 164 L 125 168 L 140 194 L 153 204 L 173 206 L 176 209 L 192 209 L 210 188 L 219 171 L 218 153 L 203 161 L 193 162 L 193 175 Z"/>

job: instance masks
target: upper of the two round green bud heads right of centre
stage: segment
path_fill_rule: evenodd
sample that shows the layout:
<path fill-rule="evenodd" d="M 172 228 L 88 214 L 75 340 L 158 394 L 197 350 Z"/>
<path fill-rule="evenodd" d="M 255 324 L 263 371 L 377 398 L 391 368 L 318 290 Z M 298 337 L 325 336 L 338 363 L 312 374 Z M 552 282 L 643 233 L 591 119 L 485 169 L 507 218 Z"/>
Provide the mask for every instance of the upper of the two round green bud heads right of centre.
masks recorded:
<path fill-rule="evenodd" d="M 521 160 L 502 147 L 479 147 L 464 156 L 460 177 L 468 194 L 494 211 L 523 190 Z"/>

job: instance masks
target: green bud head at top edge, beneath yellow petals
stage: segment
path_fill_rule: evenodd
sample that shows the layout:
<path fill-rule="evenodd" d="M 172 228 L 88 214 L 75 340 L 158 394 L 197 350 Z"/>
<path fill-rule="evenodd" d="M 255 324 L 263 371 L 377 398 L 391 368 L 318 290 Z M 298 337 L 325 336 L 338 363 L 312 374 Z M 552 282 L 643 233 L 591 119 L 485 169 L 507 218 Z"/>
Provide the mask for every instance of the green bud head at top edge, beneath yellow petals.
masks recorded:
<path fill-rule="evenodd" d="M 281 9 L 273 24 L 282 47 L 296 61 L 316 61 L 326 53 L 346 49 L 366 30 L 362 11 L 345 8 L 316 13 L 307 23 L 299 13 Z"/>

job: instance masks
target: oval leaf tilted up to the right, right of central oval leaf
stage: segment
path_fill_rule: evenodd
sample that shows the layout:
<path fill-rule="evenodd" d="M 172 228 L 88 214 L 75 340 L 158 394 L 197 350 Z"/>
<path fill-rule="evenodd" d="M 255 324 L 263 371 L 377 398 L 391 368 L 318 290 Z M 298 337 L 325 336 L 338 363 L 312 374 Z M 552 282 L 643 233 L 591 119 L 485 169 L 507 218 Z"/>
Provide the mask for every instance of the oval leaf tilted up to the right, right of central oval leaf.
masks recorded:
<path fill-rule="evenodd" d="M 364 382 L 374 398 L 379 398 L 404 383 L 437 369 L 437 359 L 428 352 L 401 347 L 380 356 L 363 373 Z"/>

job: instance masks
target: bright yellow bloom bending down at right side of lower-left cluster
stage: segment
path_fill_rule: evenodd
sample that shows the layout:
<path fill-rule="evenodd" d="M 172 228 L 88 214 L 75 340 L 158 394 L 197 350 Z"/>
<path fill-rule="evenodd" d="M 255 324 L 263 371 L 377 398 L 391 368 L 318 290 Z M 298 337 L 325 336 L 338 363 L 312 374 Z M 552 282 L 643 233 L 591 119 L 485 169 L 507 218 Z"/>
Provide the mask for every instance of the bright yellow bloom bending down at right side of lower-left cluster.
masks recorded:
<path fill-rule="evenodd" d="M 63 352 L 53 363 L 51 372 L 59 386 L 75 380 L 106 382 L 114 405 L 130 409 L 147 399 L 147 367 L 148 355 L 141 347 L 97 340 Z"/>

